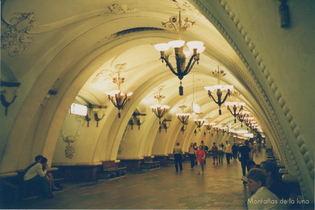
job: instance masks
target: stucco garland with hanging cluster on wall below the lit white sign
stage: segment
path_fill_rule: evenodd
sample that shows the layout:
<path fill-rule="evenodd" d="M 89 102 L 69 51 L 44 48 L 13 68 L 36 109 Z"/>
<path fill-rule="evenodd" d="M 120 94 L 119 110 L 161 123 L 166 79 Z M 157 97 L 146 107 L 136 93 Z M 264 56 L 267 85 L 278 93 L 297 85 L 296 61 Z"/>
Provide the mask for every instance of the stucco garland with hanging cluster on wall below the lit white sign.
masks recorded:
<path fill-rule="evenodd" d="M 80 122 L 80 126 L 77 129 L 77 132 L 74 136 L 66 136 L 66 133 L 61 129 L 60 133 L 61 133 L 61 137 L 65 142 L 68 142 L 68 145 L 66 146 L 66 157 L 72 159 L 72 157 L 74 156 L 74 153 L 76 152 L 74 146 L 72 145 L 72 143 L 74 141 L 77 140 L 77 137 L 80 134 L 80 130 L 83 128 L 84 126 L 84 122 L 85 122 L 85 116 L 80 116 L 80 115 L 76 115 L 76 120 Z"/>

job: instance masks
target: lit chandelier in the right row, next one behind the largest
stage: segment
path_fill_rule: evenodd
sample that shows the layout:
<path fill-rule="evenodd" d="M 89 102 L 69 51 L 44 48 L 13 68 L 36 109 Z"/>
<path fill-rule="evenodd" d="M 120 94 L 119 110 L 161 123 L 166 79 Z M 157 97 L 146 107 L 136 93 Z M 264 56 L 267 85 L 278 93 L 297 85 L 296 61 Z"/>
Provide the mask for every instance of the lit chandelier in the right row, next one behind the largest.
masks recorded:
<path fill-rule="evenodd" d="M 230 95 L 230 90 L 233 89 L 233 85 L 220 85 L 220 80 L 221 80 L 221 77 L 225 76 L 226 73 L 224 73 L 223 70 L 219 70 L 219 66 L 218 66 L 218 71 L 212 71 L 212 75 L 217 77 L 217 81 L 218 81 L 218 84 L 217 85 L 214 85 L 214 86 L 207 86 L 207 87 L 204 87 L 204 89 L 208 90 L 208 95 L 209 97 L 211 97 L 214 102 L 219 105 L 219 115 L 221 115 L 221 105 L 225 102 L 227 96 Z M 214 90 L 217 90 L 217 96 L 218 96 L 218 101 L 216 101 L 213 97 L 213 95 L 211 94 L 212 91 Z M 227 93 L 224 97 L 223 100 L 221 100 L 221 96 L 222 96 L 222 91 L 224 90 L 227 90 Z"/>

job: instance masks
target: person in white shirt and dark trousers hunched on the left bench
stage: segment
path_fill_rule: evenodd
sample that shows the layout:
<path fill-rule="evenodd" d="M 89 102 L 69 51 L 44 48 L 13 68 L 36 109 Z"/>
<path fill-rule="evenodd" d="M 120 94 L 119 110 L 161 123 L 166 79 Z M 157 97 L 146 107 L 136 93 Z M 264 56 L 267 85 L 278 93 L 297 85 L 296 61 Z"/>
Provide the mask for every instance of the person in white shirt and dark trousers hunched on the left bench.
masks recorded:
<path fill-rule="evenodd" d="M 40 160 L 40 163 L 35 164 L 26 172 L 23 180 L 29 185 L 41 185 L 44 197 L 53 198 L 54 195 L 49 192 L 49 185 L 46 179 L 47 171 L 46 169 L 43 171 L 43 166 L 45 166 L 45 168 L 48 167 L 47 158 L 45 157 Z"/>

